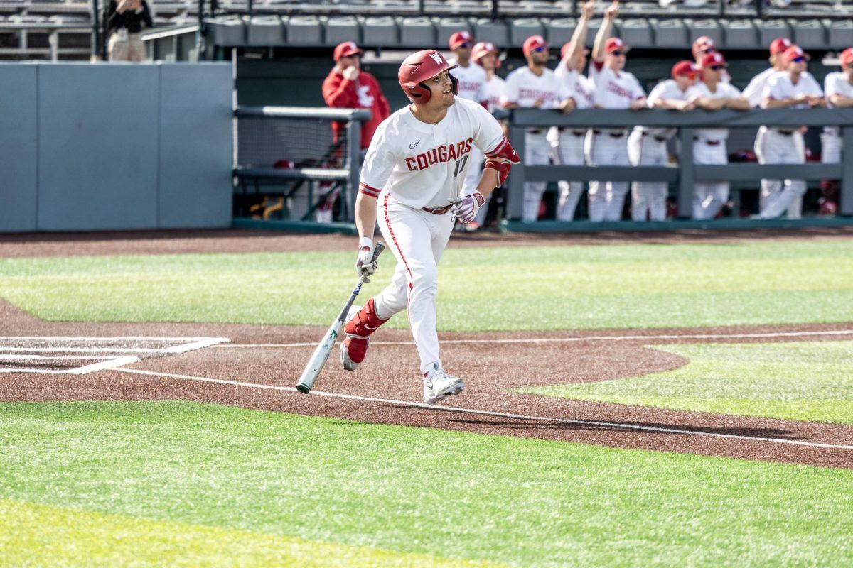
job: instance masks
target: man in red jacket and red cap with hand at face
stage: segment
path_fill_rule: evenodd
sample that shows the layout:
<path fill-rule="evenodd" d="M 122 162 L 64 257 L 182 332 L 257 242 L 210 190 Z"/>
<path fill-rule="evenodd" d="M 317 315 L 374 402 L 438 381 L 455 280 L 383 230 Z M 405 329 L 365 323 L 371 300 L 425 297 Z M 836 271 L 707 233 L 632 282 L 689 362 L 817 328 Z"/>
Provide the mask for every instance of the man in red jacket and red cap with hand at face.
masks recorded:
<path fill-rule="evenodd" d="M 391 114 L 379 82 L 368 72 L 362 71 L 363 51 L 354 42 L 339 43 L 334 48 L 334 67 L 322 83 L 322 98 L 327 106 L 334 108 L 367 108 L 371 117 L 362 123 L 362 139 L 359 145 L 362 154 L 367 152 L 374 132 L 380 123 Z M 346 123 L 332 123 L 334 143 Z"/>

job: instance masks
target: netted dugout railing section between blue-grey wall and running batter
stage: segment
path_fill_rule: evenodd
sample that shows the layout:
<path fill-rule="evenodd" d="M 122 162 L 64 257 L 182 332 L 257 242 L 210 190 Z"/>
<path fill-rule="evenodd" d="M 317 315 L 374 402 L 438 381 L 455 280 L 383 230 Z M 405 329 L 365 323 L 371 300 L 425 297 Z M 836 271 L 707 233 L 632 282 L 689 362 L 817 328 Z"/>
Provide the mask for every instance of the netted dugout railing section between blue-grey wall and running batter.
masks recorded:
<path fill-rule="evenodd" d="M 234 117 L 235 217 L 268 220 L 273 212 L 299 228 L 334 203 L 329 221 L 353 221 L 368 109 L 237 106 Z M 337 140 L 332 123 L 341 125 Z M 268 197 L 277 201 L 264 205 Z"/>

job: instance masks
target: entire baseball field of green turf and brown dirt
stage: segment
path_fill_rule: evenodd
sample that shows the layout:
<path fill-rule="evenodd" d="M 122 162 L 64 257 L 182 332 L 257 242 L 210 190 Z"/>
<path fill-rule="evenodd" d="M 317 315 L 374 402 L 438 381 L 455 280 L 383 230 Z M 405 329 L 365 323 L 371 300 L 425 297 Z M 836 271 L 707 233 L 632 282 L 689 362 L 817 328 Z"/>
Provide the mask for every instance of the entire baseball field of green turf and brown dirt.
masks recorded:
<path fill-rule="evenodd" d="M 0 239 L 0 566 L 853 565 L 853 230 L 455 236 L 435 407 L 354 241 Z"/>

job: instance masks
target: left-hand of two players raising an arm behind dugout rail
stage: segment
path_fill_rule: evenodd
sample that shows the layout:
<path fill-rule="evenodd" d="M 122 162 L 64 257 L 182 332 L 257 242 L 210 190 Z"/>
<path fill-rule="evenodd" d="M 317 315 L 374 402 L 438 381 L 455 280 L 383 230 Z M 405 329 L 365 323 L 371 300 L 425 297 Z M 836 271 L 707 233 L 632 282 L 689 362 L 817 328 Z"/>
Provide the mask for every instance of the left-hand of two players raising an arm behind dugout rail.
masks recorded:
<path fill-rule="evenodd" d="M 554 69 L 554 75 L 563 84 L 563 89 L 575 101 L 575 108 L 589 108 L 593 104 L 595 85 L 583 75 L 586 68 L 589 49 L 586 44 L 589 20 L 595 12 L 595 2 L 583 4 L 581 18 L 572 34 L 572 40 L 560 49 L 560 64 Z M 583 140 L 587 129 L 562 129 L 554 127 L 548 130 L 548 142 L 551 145 L 554 164 L 583 165 Z M 557 221 L 572 221 L 575 218 L 577 202 L 583 194 L 583 181 L 557 182 L 560 187 L 560 201 L 557 204 Z"/>

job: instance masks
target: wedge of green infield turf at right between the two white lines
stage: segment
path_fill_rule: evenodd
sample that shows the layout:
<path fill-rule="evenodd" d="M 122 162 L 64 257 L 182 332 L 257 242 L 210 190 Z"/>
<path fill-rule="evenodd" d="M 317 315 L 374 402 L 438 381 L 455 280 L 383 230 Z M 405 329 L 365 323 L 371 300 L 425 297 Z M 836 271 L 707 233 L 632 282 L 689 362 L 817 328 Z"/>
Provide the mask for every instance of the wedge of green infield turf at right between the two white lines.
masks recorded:
<path fill-rule="evenodd" d="M 566 399 L 853 425 L 853 341 L 655 347 L 676 369 L 613 381 L 522 389 Z"/>

